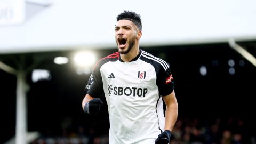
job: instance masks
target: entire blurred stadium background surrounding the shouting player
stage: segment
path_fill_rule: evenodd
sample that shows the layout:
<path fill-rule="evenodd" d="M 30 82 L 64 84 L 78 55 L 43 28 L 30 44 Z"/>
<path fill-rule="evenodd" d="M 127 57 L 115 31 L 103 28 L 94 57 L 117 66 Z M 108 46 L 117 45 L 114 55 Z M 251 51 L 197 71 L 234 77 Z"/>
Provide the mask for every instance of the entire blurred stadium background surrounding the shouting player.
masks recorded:
<path fill-rule="evenodd" d="M 256 143 L 255 1 L 0 1 L 0 143 L 108 143 L 107 106 L 82 110 L 123 10 L 141 49 L 170 63 L 179 116 L 170 143 Z M 105 101 L 104 95 L 101 98 Z"/>

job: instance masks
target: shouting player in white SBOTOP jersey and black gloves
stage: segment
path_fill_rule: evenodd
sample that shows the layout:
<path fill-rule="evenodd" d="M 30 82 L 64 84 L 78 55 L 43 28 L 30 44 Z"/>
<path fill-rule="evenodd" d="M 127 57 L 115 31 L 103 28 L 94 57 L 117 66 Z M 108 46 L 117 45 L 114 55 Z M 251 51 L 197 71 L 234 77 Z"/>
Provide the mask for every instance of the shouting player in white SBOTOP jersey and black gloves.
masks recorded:
<path fill-rule="evenodd" d="M 101 59 L 85 88 L 82 107 L 98 114 L 104 92 L 109 112 L 109 143 L 169 143 L 177 121 L 178 103 L 169 63 L 139 47 L 140 15 L 124 11 L 117 16 L 118 52 Z M 165 116 L 163 100 L 166 104 Z"/>

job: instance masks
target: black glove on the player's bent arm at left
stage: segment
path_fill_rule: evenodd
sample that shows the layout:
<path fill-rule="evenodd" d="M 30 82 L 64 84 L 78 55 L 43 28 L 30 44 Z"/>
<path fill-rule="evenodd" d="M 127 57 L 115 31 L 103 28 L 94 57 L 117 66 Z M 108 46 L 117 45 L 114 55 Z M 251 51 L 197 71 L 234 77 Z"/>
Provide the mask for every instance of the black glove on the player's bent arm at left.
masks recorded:
<path fill-rule="evenodd" d="M 84 105 L 84 112 L 87 114 L 95 115 L 99 113 L 100 107 L 103 102 L 99 98 L 94 98 Z"/>

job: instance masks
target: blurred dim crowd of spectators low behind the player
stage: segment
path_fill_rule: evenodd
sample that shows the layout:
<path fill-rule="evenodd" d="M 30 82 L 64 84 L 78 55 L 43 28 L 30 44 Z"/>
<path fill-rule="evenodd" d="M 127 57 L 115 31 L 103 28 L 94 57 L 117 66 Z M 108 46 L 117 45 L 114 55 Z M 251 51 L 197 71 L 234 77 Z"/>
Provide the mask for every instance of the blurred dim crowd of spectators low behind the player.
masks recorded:
<path fill-rule="evenodd" d="M 33 144 L 108 144 L 108 133 L 79 126 L 76 131 L 63 130 L 60 136 L 42 135 Z M 255 135 L 244 119 L 178 118 L 170 144 L 255 144 Z"/>

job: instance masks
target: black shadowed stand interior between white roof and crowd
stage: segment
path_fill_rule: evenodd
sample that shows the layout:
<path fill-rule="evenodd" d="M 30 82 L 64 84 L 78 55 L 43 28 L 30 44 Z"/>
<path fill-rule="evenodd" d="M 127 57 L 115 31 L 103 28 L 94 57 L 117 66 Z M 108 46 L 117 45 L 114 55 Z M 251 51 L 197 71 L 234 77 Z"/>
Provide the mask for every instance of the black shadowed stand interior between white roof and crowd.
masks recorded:
<path fill-rule="evenodd" d="M 240 42 L 247 51 L 256 55 L 255 42 Z M 175 82 L 175 93 L 179 104 L 178 118 L 244 119 L 246 131 L 255 135 L 256 67 L 242 55 L 231 49 L 227 43 L 141 47 L 143 50 L 170 63 Z M 100 57 L 116 52 L 116 49 L 96 50 Z M 27 92 L 28 131 L 39 131 L 43 135 L 63 135 L 77 132 L 86 127 L 98 134 L 108 133 L 107 106 L 99 115 L 89 116 L 82 110 L 84 88 L 89 75 L 77 75 L 73 63 L 55 65 L 55 56 L 66 56 L 72 51 L 42 52 L 28 54 L 0 55 L 0 60 L 11 66 L 20 55 L 30 65 L 35 58 L 44 59 L 36 67 L 51 71 L 50 81 L 31 81 Z M 235 74 L 229 74 L 228 60 L 235 62 Z M 244 65 L 239 65 L 239 62 Z M 201 66 L 207 68 L 207 75 L 199 73 Z M 0 70 L 1 95 L 1 140 L 3 143 L 15 134 L 16 77 Z M 104 98 L 102 97 L 104 100 Z M 65 129 L 63 129 L 65 128 Z"/>

